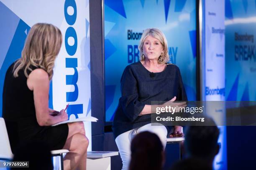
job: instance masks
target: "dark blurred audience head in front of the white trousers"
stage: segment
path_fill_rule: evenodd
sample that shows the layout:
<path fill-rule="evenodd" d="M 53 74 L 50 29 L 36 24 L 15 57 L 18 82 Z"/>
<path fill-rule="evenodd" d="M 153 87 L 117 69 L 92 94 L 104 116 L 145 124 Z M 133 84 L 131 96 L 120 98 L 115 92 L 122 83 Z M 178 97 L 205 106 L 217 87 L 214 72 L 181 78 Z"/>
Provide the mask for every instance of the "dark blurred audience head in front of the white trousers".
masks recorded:
<path fill-rule="evenodd" d="M 129 170 L 161 170 L 163 163 L 163 145 L 156 134 L 146 131 L 133 138 Z"/>

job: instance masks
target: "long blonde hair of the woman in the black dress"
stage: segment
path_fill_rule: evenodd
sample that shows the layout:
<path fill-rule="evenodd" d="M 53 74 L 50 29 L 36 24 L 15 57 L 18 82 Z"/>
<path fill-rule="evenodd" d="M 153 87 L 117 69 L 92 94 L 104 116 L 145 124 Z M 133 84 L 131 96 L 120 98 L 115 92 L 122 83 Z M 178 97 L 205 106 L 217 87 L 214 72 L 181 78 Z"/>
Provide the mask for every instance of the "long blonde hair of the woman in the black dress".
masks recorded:
<path fill-rule="evenodd" d="M 54 60 L 59 53 L 62 35 L 59 28 L 51 24 L 37 23 L 28 32 L 21 57 L 15 62 L 13 76 L 18 77 L 19 70 L 24 70 L 28 77 L 31 66 L 44 69 L 49 80 L 53 76 Z"/>

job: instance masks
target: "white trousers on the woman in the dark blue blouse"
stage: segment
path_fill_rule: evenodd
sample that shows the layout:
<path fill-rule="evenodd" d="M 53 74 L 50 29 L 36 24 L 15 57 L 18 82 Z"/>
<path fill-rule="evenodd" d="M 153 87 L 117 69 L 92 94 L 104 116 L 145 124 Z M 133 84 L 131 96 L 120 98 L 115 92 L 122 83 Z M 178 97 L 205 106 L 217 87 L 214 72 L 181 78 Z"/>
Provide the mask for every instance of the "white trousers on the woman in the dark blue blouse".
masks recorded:
<path fill-rule="evenodd" d="M 161 125 L 160 123 L 154 123 L 154 125 L 151 125 L 151 123 L 144 125 L 140 128 L 136 128 L 133 130 L 129 130 L 128 132 L 122 133 L 118 135 L 118 137 L 115 139 L 115 143 L 118 146 L 118 150 L 123 162 L 123 168 L 122 170 L 128 170 L 129 163 L 131 160 L 131 141 L 132 139 L 138 134 L 143 131 L 149 131 L 151 133 L 155 133 L 160 138 L 163 147 L 165 149 L 166 146 L 166 136 L 167 136 L 167 130 L 164 125 Z M 147 140 L 147 139 L 145 139 Z"/>

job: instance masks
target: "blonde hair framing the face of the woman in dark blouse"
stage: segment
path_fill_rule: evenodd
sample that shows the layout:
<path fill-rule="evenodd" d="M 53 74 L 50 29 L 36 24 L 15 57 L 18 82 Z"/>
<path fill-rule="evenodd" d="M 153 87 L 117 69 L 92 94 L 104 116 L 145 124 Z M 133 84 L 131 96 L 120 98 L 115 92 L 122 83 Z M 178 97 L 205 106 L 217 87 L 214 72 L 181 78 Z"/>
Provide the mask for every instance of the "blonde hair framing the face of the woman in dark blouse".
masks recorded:
<path fill-rule="evenodd" d="M 140 40 L 140 44 L 139 44 L 139 47 L 138 47 L 138 49 L 140 51 L 141 61 L 144 60 L 143 57 L 142 57 L 144 40 L 148 36 L 152 36 L 152 37 L 156 38 L 157 40 L 160 41 L 161 45 L 163 46 L 164 54 L 163 54 L 162 59 L 159 56 L 158 63 L 159 64 L 167 63 L 170 60 L 169 54 L 168 54 L 167 40 L 166 40 L 166 37 L 165 37 L 164 33 L 161 32 L 159 29 L 156 29 L 156 28 L 149 28 L 149 29 L 146 29 L 146 30 L 143 31 L 143 34 L 142 34 L 141 40 Z"/>

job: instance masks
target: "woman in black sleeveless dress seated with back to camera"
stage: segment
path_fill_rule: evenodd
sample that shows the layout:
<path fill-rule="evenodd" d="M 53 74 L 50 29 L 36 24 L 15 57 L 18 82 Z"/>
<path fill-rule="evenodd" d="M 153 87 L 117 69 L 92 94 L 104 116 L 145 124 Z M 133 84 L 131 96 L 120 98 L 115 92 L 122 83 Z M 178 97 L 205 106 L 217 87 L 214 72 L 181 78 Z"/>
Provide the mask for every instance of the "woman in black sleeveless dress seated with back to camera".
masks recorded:
<path fill-rule="evenodd" d="M 68 149 L 64 169 L 86 169 L 88 139 L 83 123 L 52 127 L 68 119 L 64 110 L 49 108 L 49 82 L 62 42 L 54 25 L 37 23 L 30 29 L 20 59 L 8 68 L 3 87 L 3 117 L 13 153 L 17 145 L 38 141 L 51 150 Z M 55 113 L 58 113 L 54 116 Z M 40 147 L 40 146 L 38 146 Z"/>

